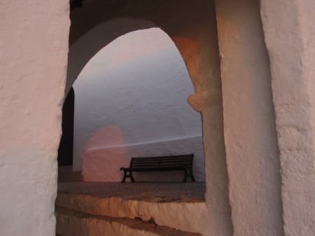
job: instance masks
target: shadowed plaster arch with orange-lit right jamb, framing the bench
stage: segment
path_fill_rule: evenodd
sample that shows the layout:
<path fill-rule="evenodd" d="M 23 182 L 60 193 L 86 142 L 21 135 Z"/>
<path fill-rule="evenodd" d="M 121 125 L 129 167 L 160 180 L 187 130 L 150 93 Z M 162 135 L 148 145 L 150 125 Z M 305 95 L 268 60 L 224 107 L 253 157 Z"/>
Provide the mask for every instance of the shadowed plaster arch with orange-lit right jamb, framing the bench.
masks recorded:
<path fill-rule="evenodd" d="M 188 101 L 197 111 L 202 111 L 205 180 L 207 184 L 206 204 L 209 207 L 209 217 L 212 218 L 209 223 L 214 226 L 209 227 L 209 234 L 232 235 L 214 2 L 203 0 L 195 4 L 192 1 L 165 0 L 139 1 L 134 4 L 133 1 L 127 0 L 87 1 L 83 8 L 76 9 L 71 13 L 71 48 L 84 34 L 89 34 L 90 30 L 95 29 L 94 27 L 98 27 L 101 23 L 108 22 L 113 18 L 118 19 L 118 28 L 122 27 L 125 33 L 128 32 L 128 29 L 133 31 L 156 25 L 170 36 L 179 49 L 195 89 L 195 93 L 188 97 Z M 131 19 L 132 24 L 129 28 L 121 18 Z M 148 22 L 153 22 L 153 24 Z M 69 55 L 69 69 L 76 70 L 78 74 L 78 71 L 83 69 L 85 64 L 78 61 L 85 60 L 87 62 L 90 60 L 99 49 L 116 39 L 120 35 L 118 33 L 116 30 L 113 35 L 106 34 L 112 38 L 111 40 L 109 38 L 104 39 L 103 46 L 101 46 L 102 43 L 89 45 L 91 53 L 80 53 L 86 57 Z M 102 41 L 104 34 L 99 34 L 99 36 L 98 39 Z M 86 45 L 81 44 L 81 46 L 76 46 L 76 50 L 83 52 L 86 47 Z M 76 64 L 79 67 L 76 67 Z M 68 71 L 68 74 L 73 75 L 75 73 Z M 74 81 L 76 78 L 69 77 L 68 79 Z M 193 222 L 195 222 L 194 219 Z"/>

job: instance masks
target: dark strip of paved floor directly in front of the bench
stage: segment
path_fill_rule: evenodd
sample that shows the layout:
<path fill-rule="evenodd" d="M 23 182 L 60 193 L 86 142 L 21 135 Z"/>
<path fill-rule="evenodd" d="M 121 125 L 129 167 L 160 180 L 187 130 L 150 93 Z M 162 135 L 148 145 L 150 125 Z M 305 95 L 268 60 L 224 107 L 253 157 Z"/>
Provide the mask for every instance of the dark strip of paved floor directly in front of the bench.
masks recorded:
<path fill-rule="evenodd" d="M 204 202 L 204 182 L 191 183 L 107 183 L 59 182 L 59 193 L 121 197 L 146 202 Z"/>

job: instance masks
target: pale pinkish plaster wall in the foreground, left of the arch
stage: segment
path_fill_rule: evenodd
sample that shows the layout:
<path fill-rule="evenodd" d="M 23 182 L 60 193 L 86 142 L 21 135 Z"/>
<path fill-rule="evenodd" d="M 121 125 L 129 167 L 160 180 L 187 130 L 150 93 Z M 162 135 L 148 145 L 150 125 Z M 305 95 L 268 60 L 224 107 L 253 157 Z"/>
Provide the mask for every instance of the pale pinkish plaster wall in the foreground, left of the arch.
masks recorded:
<path fill-rule="evenodd" d="M 55 235 L 69 1 L 0 1 L 0 235 Z"/>

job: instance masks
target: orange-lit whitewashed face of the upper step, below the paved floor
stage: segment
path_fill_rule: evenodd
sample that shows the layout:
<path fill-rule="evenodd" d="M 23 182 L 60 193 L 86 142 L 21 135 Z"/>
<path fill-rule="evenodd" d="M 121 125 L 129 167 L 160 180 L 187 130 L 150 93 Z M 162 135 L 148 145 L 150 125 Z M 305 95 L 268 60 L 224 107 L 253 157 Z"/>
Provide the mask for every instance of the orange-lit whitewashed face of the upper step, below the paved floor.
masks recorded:
<path fill-rule="evenodd" d="M 211 226 L 205 202 L 146 202 L 59 192 L 55 205 L 93 216 L 141 218 L 144 221 L 153 218 L 158 225 L 202 235 L 207 235 Z"/>

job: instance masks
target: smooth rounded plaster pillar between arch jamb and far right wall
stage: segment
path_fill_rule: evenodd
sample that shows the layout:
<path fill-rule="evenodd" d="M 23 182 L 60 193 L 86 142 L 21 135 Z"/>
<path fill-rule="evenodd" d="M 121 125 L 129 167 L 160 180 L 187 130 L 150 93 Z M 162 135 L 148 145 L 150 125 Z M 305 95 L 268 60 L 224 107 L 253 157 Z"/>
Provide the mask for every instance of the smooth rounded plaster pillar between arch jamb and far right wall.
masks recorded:
<path fill-rule="evenodd" d="M 216 1 L 234 235 L 283 235 L 269 60 L 259 1 Z"/>

